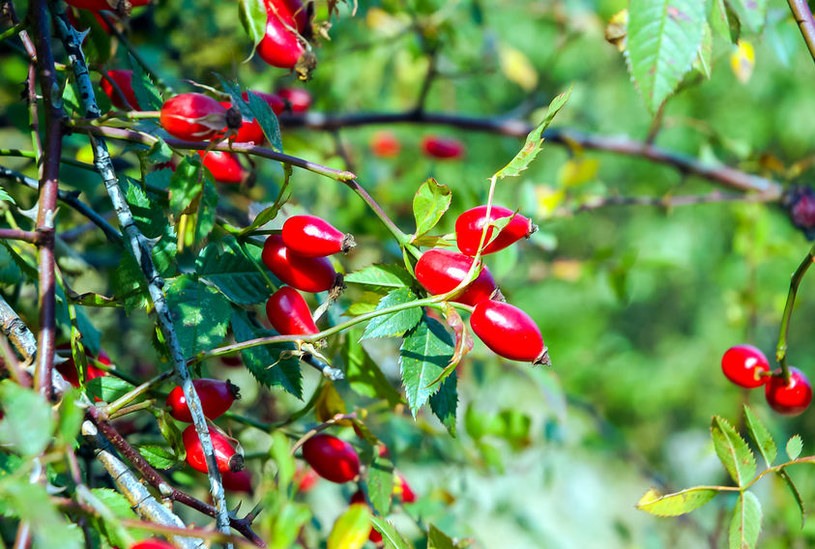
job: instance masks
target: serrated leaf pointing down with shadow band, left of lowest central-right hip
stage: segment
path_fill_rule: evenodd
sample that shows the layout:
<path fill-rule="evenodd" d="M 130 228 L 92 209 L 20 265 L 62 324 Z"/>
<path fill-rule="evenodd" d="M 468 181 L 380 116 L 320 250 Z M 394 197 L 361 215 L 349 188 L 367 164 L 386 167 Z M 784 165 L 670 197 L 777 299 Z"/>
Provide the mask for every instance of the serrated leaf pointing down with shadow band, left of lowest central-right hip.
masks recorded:
<path fill-rule="evenodd" d="M 427 316 L 405 336 L 399 349 L 402 383 L 414 417 L 419 408 L 439 390 L 438 384 L 433 387 L 428 385 L 444 371 L 453 356 L 453 349 L 453 340 L 444 326 Z"/>

